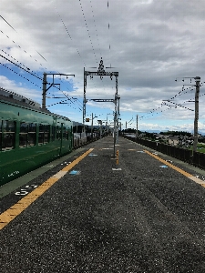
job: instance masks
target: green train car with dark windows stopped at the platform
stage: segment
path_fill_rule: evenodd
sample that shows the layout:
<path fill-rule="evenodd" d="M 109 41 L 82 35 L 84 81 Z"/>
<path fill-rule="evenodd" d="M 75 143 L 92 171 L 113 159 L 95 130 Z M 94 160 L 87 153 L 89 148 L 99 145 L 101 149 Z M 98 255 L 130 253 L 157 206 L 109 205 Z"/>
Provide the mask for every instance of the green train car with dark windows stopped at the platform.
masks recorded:
<path fill-rule="evenodd" d="M 73 148 L 73 123 L 26 98 L 0 93 L 0 186 Z"/>

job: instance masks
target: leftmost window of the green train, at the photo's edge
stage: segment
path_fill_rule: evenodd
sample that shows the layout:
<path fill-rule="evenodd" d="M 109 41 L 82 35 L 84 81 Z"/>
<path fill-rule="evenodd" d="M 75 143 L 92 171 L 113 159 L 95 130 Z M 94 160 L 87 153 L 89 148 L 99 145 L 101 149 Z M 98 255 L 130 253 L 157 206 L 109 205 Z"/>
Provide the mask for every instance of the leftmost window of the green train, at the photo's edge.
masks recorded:
<path fill-rule="evenodd" d="M 15 121 L 1 122 L 1 144 L 2 150 L 15 148 Z"/>

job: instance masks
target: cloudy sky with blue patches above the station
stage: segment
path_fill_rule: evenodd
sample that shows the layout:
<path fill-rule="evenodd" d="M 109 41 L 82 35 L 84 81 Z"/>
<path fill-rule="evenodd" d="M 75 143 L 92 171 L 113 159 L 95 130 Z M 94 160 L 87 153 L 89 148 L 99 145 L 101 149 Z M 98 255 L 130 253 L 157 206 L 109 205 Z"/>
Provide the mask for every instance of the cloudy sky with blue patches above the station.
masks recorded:
<path fill-rule="evenodd" d="M 74 74 L 54 77 L 60 90 L 47 91 L 46 106 L 82 122 L 84 67 L 96 71 L 102 57 L 118 72 L 123 128 L 138 115 L 139 130 L 192 131 L 200 76 L 205 133 L 204 0 L 1 0 L 0 11 L 1 87 L 41 104 L 44 72 Z M 87 76 L 86 117 L 111 120 L 114 104 L 91 99 L 113 99 L 115 88 L 115 77 Z"/>

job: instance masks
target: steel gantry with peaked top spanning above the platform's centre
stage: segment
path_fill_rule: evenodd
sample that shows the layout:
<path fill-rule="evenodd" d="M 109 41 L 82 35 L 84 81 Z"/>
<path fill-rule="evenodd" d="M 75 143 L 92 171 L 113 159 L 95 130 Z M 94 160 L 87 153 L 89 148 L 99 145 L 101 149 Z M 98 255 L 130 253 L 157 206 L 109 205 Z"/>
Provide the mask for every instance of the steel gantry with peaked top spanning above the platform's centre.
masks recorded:
<path fill-rule="evenodd" d="M 108 67 L 109 68 L 109 67 Z M 113 101 L 115 103 L 115 115 L 114 115 L 114 143 L 116 143 L 116 129 L 118 128 L 118 72 L 106 72 L 104 69 L 104 65 L 103 65 L 103 60 L 101 58 L 100 62 L 99 62 L 99 66 L 98 66 L 98 70 L 97 71 L 86 71 L 85 67 L 84 67 L 84 99 L 83 99 L 83 124 L 85 126 L 85 118 L 86 118 L 86 104 L 87 104 L 87 97 L 86 97 L 86 90 L 87 90 L 87 76 L 90 76 L 90 78 L 93 78 L 93 76 L 100 76 L 100 79 L 103 78 L 103 76 L 110 76 L 110 79 L 112 80 L 113 76 L 116 77 L 116 93 L 115 93 L 115 98 L 113 100 L 109 100 L 109 101 Z M 100 101 L 100 102 L 105 102 L 108 101 L 106 99 L 93 99 L 95 101 Z"/>

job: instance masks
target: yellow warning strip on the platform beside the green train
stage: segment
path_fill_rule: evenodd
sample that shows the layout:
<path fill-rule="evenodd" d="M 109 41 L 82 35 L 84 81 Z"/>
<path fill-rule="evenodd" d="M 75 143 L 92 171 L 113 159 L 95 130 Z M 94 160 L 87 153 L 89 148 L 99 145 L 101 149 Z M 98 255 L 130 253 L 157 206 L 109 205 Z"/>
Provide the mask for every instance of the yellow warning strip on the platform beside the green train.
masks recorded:
<path fill-rule="evenodd" d="M 23 197 L 21 200 L 15 203 L 15 205 L 5 210 L 5 212 L 0 215 L 0 230 L 20 213 L 22 213 L 22 211 L 24 211 L 26 207 L 30 206 L 38 197 L 43 195 L 49 187 L 54 185 L 56 181 L 59 180 L 59 178 L 64 177 L 72 167 L 76 166 L 84 157 L 87 157 L 92 150 L 93 148 L 87 150 L 86 153 L 80 157 L 77 157 L 77 159 L 71 162 L 67 167 L 64 167 L 53 177 L 49 177 L 42 185 L 36 187 L 31 193 L 26 195 L 26 197 Z"/>

